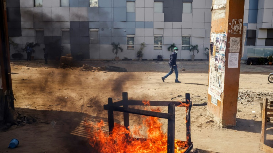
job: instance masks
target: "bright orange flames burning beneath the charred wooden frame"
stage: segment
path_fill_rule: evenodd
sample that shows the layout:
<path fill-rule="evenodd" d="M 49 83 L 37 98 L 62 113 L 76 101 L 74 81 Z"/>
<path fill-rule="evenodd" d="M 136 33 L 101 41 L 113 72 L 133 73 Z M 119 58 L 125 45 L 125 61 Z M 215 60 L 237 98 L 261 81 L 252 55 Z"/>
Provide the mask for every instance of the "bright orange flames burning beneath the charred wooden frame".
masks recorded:
<path fill-rule="evenodd" d="M 149 105 L 149 101 L 143 101 Z M 160 109 L 152 109 L 151 111 L 160 112 Z M 167 152 L 167 134 L 161 129 L 162 123 L 158 117 L 143 116 L 143 126 L 147 127 L 147 139 L 134 138 L 145 137 L 140 134 L 141 126 L 128 131 L 126 127 L 114 123 L 112 133 L 106 133 L 103 121 L 97 125 L 91 125 L 88 122 L 86 127 L 90 127 L 89 133 L 93 135 L 89 138 L 89 144 L 100 153 L 166 153 Z M 91 129 L 96 129 L 91 131 Z M 188 137 L 188 136 L 187 136 Z M 175 153 L 183 153 L 188 148 L 188 142 L 175 140 Z M 182 149 L 181 149 L 182 148 Z"/>

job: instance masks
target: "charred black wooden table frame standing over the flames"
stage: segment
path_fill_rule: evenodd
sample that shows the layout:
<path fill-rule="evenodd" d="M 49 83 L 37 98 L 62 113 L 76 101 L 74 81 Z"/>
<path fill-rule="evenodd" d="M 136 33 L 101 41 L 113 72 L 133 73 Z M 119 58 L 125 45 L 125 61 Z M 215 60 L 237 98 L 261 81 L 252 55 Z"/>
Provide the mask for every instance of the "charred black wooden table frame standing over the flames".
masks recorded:
<path fill-rule="evenodd" d="M 168 119 L 168 144 L 167 153 L 174 153 L 174 134 L 175 134 L 175 106 L 186 107 L 186 136 L 187 141 L 181 141 L 187 144 L 184 153 L 190 152 L 193 148 L 193 143 L 191 142 L 191 106 L 192 102 L 190 100 L 190 94 L 186 94 L 185 102 L 171 102 L 171 101 L 149 101 L 149 106 L 168 106 L 168 113 L 160 113 L 154 111 L 140 110 L 129 108 L 129 105 L 144 106 L 143 101 L 138 100 L 128 100 L 128 93 L 122 93 L 122 100 L 114 102 L 112 98 L 108 98 L 108 104 L 104 105 L 103 108 L 108 111 L 108 126 L 109 134 L 112 133 L 114 128 L 114 111 L 123 112 L 124 126 L 129 130 L 129 113 L 137 115 L 145 115 L 151 117 L 158 117 Z M 122 106 L 122 107 L 121 107 Z M 183 149 L 183 148 L 181 148 Z M 185 148 L 184 148 L 185 149 Z"/>

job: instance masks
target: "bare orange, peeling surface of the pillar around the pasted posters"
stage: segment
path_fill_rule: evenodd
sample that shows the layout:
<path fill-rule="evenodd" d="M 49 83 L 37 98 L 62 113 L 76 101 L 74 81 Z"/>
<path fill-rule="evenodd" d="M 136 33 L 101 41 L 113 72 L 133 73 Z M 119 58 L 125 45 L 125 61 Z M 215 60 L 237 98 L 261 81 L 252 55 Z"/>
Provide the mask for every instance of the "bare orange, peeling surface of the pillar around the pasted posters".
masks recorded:
<path fill-rule="evenodd" d="M 240 41 L 237 41 L 237 43 L 239 43 L 239 46 L 242 45 L 244 0 L 213 0 L 211 11 L 211 33 L 225 33 L 227 35 L 227 43 L 224 66 L 224 91 L 221 93 L 221 100 L 216 99 L 217 105 L 212 103 L 212 98 L 214 97 L 208 94 L 207 114 L 211 115 L 221 127 L 230 127 L 236 125 L 240 59 L 242 51 L 242 48 L 239 48 L 237 51 L 231 51 L 231 49 L 234 48 L 232 46 L 230 48 L 230 38 L 232 38 L 232 40 L 240 38 Z M 233 44 L 231 45 L 238 46 L 238 44 L 234 44 L 236 42 L 232 43 Z M 230 53 L 238 54 L 237 58 L 239 60 L 238 63 L 235 62 L 235 64 L 237 64 L 237 67 L 235 66 L 235 68 L 228 67 L 228 57 Z M 211 69 L 211 66 L 209 66 L 209 69 Z"/>

